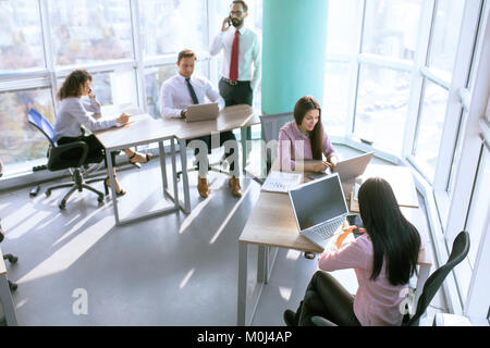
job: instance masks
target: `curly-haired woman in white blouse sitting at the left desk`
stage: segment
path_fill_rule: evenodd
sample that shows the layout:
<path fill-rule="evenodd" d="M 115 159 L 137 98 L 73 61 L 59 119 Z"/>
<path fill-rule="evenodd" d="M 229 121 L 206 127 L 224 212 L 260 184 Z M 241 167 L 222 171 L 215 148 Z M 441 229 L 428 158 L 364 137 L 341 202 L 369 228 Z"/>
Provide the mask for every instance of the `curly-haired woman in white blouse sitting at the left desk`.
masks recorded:
<path fill-rule="evenodd" d="M 106 160 L 106 156 L 103 146 L 94 135 L 85 136 L 82 125 L 91 132 L 95 132 L 123 125 L 130 120 L 130 116 L 125 113 L 122 113 L 117 119 L 94 119 L 89 112 L 100 114 L 100 103 L 91 92 L 90 86 L 91 75 L 85 70 L 76 70 L 66 76 L 63 86 L 61 86 L 60 91 L 58 92 L 58 98 L 61 103 L 54 124 L 53 139 L 59 145 L 72 141 L 86 142 L 88 146 L 86 163 L 93 163 L 94 159 L 103 158 Z M 82 97 L 84 96 L 88 96 L 89 101 L 82 100 Z M 145 156 L 131 149 L 125 149 L 124 152 L 130 158 L 130 163 L 137 166 L 139 165 L 137 163 L 146 163 L 151 159 L 150 154 Z M 122 196 L 126 191 L 119 186 L 118 179 L 115 178 L 115 153 L 117 152 L 111 152 L 112 167 L 114 169 L 115 192 L 118 196 Z M 106 188 L 106 195 L 108 195 L 109 176 L 103 182 L 103 186 Z"/>

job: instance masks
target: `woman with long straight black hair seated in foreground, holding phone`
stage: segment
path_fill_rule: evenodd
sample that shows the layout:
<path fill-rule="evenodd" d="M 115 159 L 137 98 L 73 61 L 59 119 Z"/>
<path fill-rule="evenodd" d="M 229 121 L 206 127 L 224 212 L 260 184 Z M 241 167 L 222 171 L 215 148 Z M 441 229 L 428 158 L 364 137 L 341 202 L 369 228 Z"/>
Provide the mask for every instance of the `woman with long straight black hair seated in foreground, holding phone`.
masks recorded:
<path fill-rule="evenodd" d="M 366 234 L 323 253 L 296 313 L 286 310 L 287 325 L 313 325 L 321 315 L 338 325 L 401 325 L 408 279 L 422 244 L 417 229 L 400 211 L 388 182 L 367 179 L 358 192 Z M 351 295 L 323 271 L 354 269 L 358 289 Z"/>

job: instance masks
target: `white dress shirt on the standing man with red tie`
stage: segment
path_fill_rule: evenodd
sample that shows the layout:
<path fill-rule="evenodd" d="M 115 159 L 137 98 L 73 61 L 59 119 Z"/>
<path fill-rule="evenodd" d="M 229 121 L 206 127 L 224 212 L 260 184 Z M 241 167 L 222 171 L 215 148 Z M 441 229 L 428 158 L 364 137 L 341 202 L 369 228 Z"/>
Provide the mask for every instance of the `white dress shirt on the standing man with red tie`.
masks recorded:
<path fill-rule="evenodd" d="M 220 32 L 212 41 L 210 54 L 217 55 L 223 50 L 223 64 L 221 66 L 221 76 L 230 78 L 230 63 L 233 39 L 236 29 L 230 27 L 225 32 Z M 250 28 L 243 26 L 240 28 L 238 41 L 238 80 L 250 80 L 252 89 L 256 90 L 260 80 L 260 41 L 258 35 Z M 252 73 L 252 63 L 255 65 L 254 74 Z"/>

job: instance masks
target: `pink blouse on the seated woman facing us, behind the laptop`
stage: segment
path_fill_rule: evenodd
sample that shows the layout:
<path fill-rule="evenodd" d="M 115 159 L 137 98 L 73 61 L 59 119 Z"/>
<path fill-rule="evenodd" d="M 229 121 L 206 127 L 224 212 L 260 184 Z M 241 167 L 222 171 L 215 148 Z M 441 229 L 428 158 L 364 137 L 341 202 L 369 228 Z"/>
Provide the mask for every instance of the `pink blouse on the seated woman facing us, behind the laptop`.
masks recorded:
<path fill-rule="evenodd" d="M 323 132 L 322 152 L 326 158 L 335 152 L 326 132 Z M 309 136 L 299 130 L 296 121 L 286 123 L 279 130 L 278 153 L 281 161 L 281 170 L 285 171 L 295 169 L 295 160 L 313 160 Z"/>

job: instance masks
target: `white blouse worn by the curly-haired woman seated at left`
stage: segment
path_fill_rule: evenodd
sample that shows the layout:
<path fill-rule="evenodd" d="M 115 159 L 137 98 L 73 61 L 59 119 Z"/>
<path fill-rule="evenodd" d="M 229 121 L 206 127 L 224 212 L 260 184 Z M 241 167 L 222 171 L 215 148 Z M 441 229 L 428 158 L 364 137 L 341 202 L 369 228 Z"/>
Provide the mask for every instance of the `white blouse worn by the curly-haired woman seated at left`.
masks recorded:
<path fill-rule="evenodd" d="M 82 100 L 81 98 L 65 98 L 60 103 L 60 109 L 54 124 L 54 141 L 62 137 L 79 137 L 81 126 L 84 125 L 91 132 L 107 129 L 115 126 L 115 119 L 94 119 L 89 112 L 100 113 L 100 104 L 97 100 Z"/>

